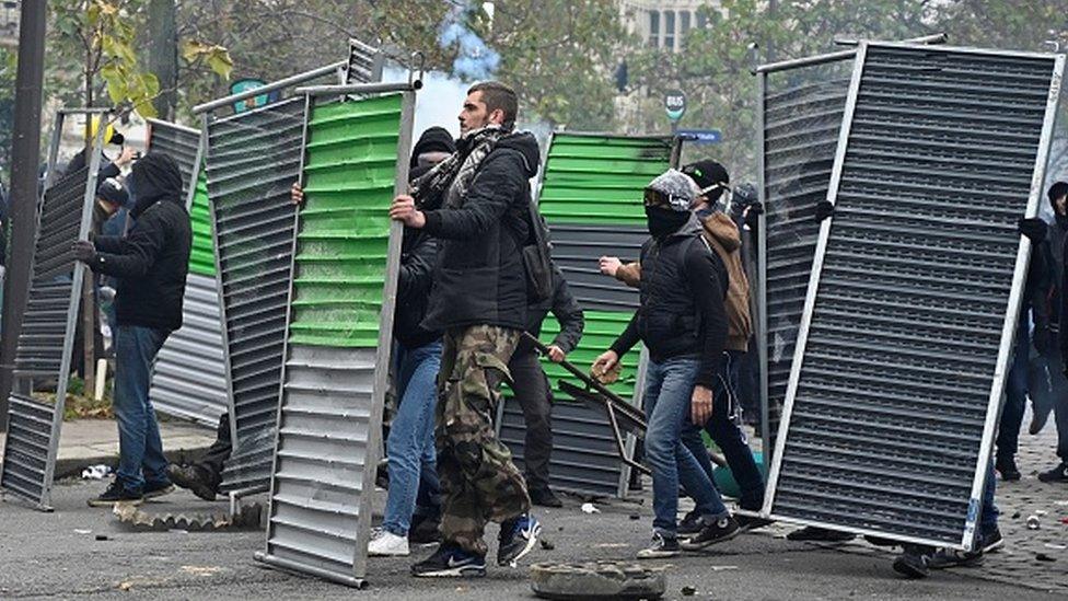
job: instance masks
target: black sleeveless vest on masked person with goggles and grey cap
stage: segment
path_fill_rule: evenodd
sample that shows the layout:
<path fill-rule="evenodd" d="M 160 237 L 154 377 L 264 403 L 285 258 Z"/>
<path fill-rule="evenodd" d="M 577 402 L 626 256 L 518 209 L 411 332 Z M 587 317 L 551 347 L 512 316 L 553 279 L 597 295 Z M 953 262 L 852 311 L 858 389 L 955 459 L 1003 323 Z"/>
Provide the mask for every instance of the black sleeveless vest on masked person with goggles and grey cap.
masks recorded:
<path fill-rule="evenodd" d="M 698 355 L 703 348 L 700 317 L 686 273 L 686 256 L 689 253 L 707 253 L 713 257 L 720 265 L 717 271 L 727 293 L 727 268 L 701 240 L 700 232 L 699 227 L 684 226 L 682 231 L 662 241 L 650 239 L 641 247 L 638 335 L 658 362 L 672 357 Z"/>

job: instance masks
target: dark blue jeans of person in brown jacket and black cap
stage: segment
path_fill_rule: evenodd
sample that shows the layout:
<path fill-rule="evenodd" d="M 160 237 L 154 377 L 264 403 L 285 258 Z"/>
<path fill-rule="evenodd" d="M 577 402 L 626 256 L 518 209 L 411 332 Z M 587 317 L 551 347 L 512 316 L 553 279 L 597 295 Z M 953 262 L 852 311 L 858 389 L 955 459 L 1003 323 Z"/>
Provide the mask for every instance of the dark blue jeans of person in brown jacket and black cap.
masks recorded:
<path fill-rule="evenodd" d="M 705 423 L 704 429 L 723 451 L 723 459 L 727 460 L 727 465 L 730 466 L 731 474 L 742 492 L 740 505 L 743 509 L 756 511 L 764 505 L 764 476 L 761 475 L 761 469 L 753 458 L 745 432 L 739 426 L 741 402 L 738 396 L 738 373 L 744 356 L 745 354 L 740 350 L 724 352 L 723 369 L 712 389 L 712 416 Z M 685 424 L 683 444 L 694 454 L 708 477 L 712 478 L 712 462 L 708 459 L 700 431 L 701 427 Z"/>

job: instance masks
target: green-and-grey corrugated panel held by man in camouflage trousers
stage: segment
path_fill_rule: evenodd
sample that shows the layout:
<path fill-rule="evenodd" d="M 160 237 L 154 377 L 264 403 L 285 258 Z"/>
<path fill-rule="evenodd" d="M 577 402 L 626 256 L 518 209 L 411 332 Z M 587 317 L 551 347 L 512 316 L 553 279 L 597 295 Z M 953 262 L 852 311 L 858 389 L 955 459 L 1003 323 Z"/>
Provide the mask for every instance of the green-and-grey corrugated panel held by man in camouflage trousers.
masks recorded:
<path fill-rule="evenodd" d="M 413 92 L 310 99 L 266 551 L 352 586 L 367 573 Z"/>

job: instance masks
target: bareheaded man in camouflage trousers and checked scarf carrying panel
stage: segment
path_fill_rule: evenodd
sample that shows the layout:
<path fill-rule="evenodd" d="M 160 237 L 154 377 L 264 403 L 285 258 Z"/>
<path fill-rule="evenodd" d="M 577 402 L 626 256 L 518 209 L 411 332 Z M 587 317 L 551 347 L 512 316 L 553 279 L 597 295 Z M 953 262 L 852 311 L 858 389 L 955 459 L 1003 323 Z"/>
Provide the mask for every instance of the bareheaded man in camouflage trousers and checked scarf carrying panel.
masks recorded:
<path fill-rule="evenodd" d="M 501 523 L 499 565 L 530 553 L 541 531 L 523 475 L 492 424 L 526 326 L 521 255 L 531 236 L 530 178 L 541 159 L 533 135 L 512 132 L 518 113 L 507 85 L 472 86 L 460 114 L 460 151 L 416 185 L 420 201 L 443 195 L 442 208 L 422 211 L 402 195 L 390 211 L 441 241 L 423 325 L 445 333 L 436 430 L 442 544 L 413 566 L 415 576 L 485 575 L 487 521 Z"/>

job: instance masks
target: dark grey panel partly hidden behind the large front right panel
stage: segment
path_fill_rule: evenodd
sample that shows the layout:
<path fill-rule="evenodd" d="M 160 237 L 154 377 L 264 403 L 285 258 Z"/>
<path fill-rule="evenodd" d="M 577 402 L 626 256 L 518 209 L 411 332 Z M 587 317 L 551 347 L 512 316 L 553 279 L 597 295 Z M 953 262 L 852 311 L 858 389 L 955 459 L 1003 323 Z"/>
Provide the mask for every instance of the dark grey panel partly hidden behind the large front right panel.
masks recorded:
<path fill-rule="evenodd" d="M 835 56 L 835 55 L 833 55 Z M 761 72 L 762 217 L 757 257 L 757 352 L 762 373 L 762 432 L 767 463 L 775 448 L 831 167 L 846 107 L 854 56 Z"/>

